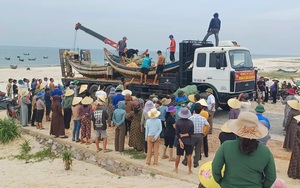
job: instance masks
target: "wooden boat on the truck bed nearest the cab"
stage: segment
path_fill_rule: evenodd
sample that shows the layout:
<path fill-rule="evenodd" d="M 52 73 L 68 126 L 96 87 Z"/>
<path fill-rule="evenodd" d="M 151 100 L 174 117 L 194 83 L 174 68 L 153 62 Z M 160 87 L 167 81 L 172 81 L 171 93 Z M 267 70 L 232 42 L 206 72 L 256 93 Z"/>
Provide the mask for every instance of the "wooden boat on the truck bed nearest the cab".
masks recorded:
<path fill-rule="evenodd" d="M 114 55 L 113 53 L 109 52 L 106 48 L 104 48 L 104 54 L 108 60 L 108 63 L 114 70 L 119 72 L 122 75 L 125 76 L 134 76 L 139 77 L 141 75 L 140 73 L 140 67 L 127 67 L 126 65 L 120 64 L 119 57 Z M 179 62 L 169 63 L 164 66 L 164 72 L 176 72 L 179 68 Z M 155 67 L 151 67 L 148 76 L 154 76 L 156 73 Z"/>

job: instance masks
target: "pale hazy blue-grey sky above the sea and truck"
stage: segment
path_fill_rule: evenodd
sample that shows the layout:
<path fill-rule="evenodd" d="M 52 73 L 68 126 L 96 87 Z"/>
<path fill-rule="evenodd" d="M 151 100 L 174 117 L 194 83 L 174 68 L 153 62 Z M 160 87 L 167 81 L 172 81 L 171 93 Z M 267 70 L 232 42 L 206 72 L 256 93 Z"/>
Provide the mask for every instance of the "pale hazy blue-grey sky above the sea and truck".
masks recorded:
<path fill-rule="evenodd" d="M 215 12 L 220 40 L 235 40 L 253 54 L 298 55 L 299 0 L 0 0 L 0 45 L 86 49 L 108 47 L 83 26 L 128 48 L 165 50 L 174 35 L 202 40 Z M 77 34 L 76 34 L 77 33 Z M 76 36 L 76 37 L 75 37 Z M 214 36 L 208 40 L 214 42 Z"/>

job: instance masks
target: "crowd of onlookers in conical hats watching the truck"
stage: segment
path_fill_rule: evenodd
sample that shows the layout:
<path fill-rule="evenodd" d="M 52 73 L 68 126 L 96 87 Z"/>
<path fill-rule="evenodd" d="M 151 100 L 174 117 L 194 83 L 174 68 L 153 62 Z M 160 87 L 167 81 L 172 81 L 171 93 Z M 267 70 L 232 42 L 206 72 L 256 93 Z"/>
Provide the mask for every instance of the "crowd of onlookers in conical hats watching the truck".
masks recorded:
<path fill-rule="evenodd" d="M 183 90 L 179 90 L 176 96 L 158 99 L 158 96 L 151 95 L 144 101 L 140 95 L 132 96 L 130 90 L 124 89 L 123 82 L 117 87 L 99 86 L 94 99 L 87 90 L 88 86 L 80 85 L 77 80 L 64 86 L 54 83 L 52 78 L 49 80 L 50 82 L 47 78 L 32 79 L 30 83 L 24 78 L 15 84 L 13 79 L 9 79 L 7 95 L 18 100 L 21 107 L 21 125 L 31 124 L 37 129 L 44 129 L 45 114 L 45 120 L 51 122 L 50 135 L 68 138 L 65 130 L 72 127 L 70 122 L 73 119 L 72 141 L 91 144 L 93 130 L 98 152 L 111 151 L 107 148 L 106 130 L 107 127 L 113 127 L 115 151 L 123 154 L 125 137 L 128 136 L 129 147 L 147 153 L 146 165 L 157 166 L 158 151 L 163 147 L 160 158 L 174 162 L 176 173 L 181 156 L 181 163 L 188 167 L 189 174 L 192 173 L 192 165 L 197 168 L 201 158 L 208 157 L 208 134 L 212 131 L 216 110 L 216 101 L 210 88 L 206 90 L 206 99 L 200 98 L 199 94 L 187 96 Z M 286 130 L 284 148 L 292 151 L 294 157 L 290 164 L 294 164 L 299 156 L 300 104 L 294 98 L 293 88 L 287 92 L 289 95 L 285 100 L 282 99 L 286 104 L 283 122 Z M 221 128 L 221 147 L 212 163 L 216 182 L 222 186 L 272 185 L 276 172 L 273 156 L 266 147 L 270 139 L 271 125 L 263 114 L 264 106 L 257 105 L 254 109 L 256 115 L 249 112 L 251 102 L 247 93 L 228 100 L 228 105 L 229 120 Z M 160 145 L 162 138 L 163 146 Z M 100 141 L 103 142 L 102 148 L 99 146 Z M 176 155 L 173 148 L 176 149 Z M 243 160 L 237 160 L 237 156 Z M 256 161 L 258 157 L 260 164 L 252 165 L 248 162 Z M 233 163 L 240 165 L 232 165 Z M 224 164 L 230 167 L 225 170 L 228 175 L 221 176 Z M 239 169 L 242 167 L 243 169 Z M 240 170 L 252 175 L 240 180 Z M 288 174 L 290 177 L 299 178 L 299 165 L 290 165 Z"/>

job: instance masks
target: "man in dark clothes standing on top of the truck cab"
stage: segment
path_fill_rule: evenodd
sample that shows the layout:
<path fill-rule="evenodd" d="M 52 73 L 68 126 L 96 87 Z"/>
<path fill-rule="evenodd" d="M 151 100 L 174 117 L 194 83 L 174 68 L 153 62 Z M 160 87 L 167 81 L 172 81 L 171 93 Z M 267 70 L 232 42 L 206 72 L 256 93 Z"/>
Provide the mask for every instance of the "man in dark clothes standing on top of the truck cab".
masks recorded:
<path fill-rule="evenodd" d="M 219 19 L 219 14 L 214 13 L 214 17 L 210 20 L 209 27 L 207 30 L 207 34 L 202 40 L 203 43 L 206 42 L 207 38 L 214 34 L 216 39 L 216 46 L 219 46 L 219 31 L 221 29 L 221 20 Z"/>

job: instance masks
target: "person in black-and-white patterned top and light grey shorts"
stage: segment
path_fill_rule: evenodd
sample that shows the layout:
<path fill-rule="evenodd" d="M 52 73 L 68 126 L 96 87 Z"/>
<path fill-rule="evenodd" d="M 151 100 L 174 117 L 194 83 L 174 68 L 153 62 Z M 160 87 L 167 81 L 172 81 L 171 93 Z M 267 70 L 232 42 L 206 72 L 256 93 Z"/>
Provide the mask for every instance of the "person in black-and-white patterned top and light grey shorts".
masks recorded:
<path fill-rule="evenodd" d="M 100 137 L 103 139 L 103 151 L 108 152 L 109 150 L 106 148 L 107 145 L 106 121 L 108 119 L 108 113 L 106 110 L 104 110 L 102 102 L 97 101 L 97 108 L 92 114 L 92 116 L 93 116 L 92 120 L 94 125 L 95 143 L 96 143 L 97 152 L 101 150 L 99 147 Z"/>

